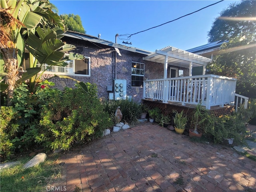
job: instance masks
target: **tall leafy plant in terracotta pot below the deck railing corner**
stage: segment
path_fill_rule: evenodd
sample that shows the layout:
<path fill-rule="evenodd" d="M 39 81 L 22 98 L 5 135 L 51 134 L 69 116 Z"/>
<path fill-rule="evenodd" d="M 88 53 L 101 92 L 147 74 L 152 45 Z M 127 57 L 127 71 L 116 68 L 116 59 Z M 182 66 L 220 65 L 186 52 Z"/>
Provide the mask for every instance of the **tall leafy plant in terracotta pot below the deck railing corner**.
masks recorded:
<path fill-rule="evenodd" d="M 204 109 L 201 104 L 198 104 L 192 112 L 192 126 L 189 130 L 189 137 L 201 137 L 202 132 L 198 132 L 198 129 L 203 126 L 204 121 L 207 118 L 208 111 Z"/>

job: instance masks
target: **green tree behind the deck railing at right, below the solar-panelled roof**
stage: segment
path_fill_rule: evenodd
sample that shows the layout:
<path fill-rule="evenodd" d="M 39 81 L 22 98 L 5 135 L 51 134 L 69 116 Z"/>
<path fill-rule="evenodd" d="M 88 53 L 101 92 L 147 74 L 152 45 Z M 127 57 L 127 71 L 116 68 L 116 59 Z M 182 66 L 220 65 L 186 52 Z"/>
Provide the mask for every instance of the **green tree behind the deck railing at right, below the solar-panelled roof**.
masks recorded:
<path fill-rule="evenodd" d="M 256 98 L 256 35 L 222 44 L 208 69 L 216 75 L 236 78 L 236 93 Z"/>

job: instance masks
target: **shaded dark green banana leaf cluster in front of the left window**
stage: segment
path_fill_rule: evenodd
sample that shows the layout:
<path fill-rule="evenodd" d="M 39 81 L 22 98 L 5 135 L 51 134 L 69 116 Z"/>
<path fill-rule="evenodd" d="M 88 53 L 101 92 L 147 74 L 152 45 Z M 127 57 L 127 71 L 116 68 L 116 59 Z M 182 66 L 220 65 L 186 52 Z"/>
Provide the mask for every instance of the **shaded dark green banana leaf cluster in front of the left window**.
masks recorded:
<path fill-rule="evenodd" d="M 76 53 L 69 53 L 68 56 L 64 56 L 65 52 L 74 50 L 76 47 L 71 44 L 62 42 L 60 38 L 64 36 L 64 32 L 56 27 L 38 27 L 36 28 L 36 34 L 30 33 L 26 40 L 26 49 L 34 56 L 34 62 L 30 67 L 36 67 L 36 64 L 48 64 L 48 67 L 36 74 L 30 79 L 30 91 L 33 92 L 36 82 L 39 82 L 44 72 L 52 66 L 67 66 L 68 60 L 81 60 L 83 55 Z M 30 63 L 31 64 L 31 63 Z"/>

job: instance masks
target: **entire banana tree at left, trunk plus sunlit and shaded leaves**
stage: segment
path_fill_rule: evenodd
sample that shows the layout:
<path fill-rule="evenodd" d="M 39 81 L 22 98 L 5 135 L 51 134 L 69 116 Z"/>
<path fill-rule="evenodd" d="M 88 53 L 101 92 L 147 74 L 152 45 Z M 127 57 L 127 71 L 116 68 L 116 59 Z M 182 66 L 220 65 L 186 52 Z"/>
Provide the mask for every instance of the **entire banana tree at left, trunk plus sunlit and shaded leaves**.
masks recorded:
<path fill-rule="evenodd" d="M 0 6 L 1 91 L 7 88 L 7 105 L 10 106 L 17 83 L 30 79 L 33 92 L 36 80 L 43 74 L 37 76 L 41 70 L 36 67 L 38 62 L 49 67 L 66 66 L 66 60 L 83 59 L 83 56 L 70 53 L 64 57 L 65 52 L 76 47 L 60 40 L 65 26 L 60 16 L 52 12 L 49 0 L 2 0 Z M 30 68 L 18 78 L 25 47 L 30 52 Z"/>

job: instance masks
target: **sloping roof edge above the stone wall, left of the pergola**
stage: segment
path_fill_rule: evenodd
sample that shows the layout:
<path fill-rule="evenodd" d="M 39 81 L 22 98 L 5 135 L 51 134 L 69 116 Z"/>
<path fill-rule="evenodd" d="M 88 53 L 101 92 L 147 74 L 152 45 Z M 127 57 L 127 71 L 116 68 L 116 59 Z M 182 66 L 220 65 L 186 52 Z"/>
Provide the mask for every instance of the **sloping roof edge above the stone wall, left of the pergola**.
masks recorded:
<path fill-rule="evenodd" d="M 100 38 L 95 37 L 95 36 L 82 34 L 82 33 L 74 32 L 74 31 L 65 32 L 65 36 L 71 37 L 71 38 L 76 38 L 76 39 L 81 39 L 81 40 L 86 40 L 86 41 L 90 41 L 90 42 L 93 42 L 93 43 L 103 44 L 103 45 L 111 46 L 111 47 L 118 48 L 118 49 L 128 50 L 130 52 L 141 53 L 141 54 L 145 54 L 145 55 L 148 55 L 148 54 L 151 53 L 150 51 L 146 51 L 146 50 L 139 49 L 139 48 L 134 48 L 134 47 L 127 47 L 127 46 L 124 46 L 124 45 L 120 45 L 120 44 L 117 44 L 117 43 L 113 43 L 113 42 L 110 42 L 110 41 L 107 41 L 107 40 L 100 39 Z"/>

